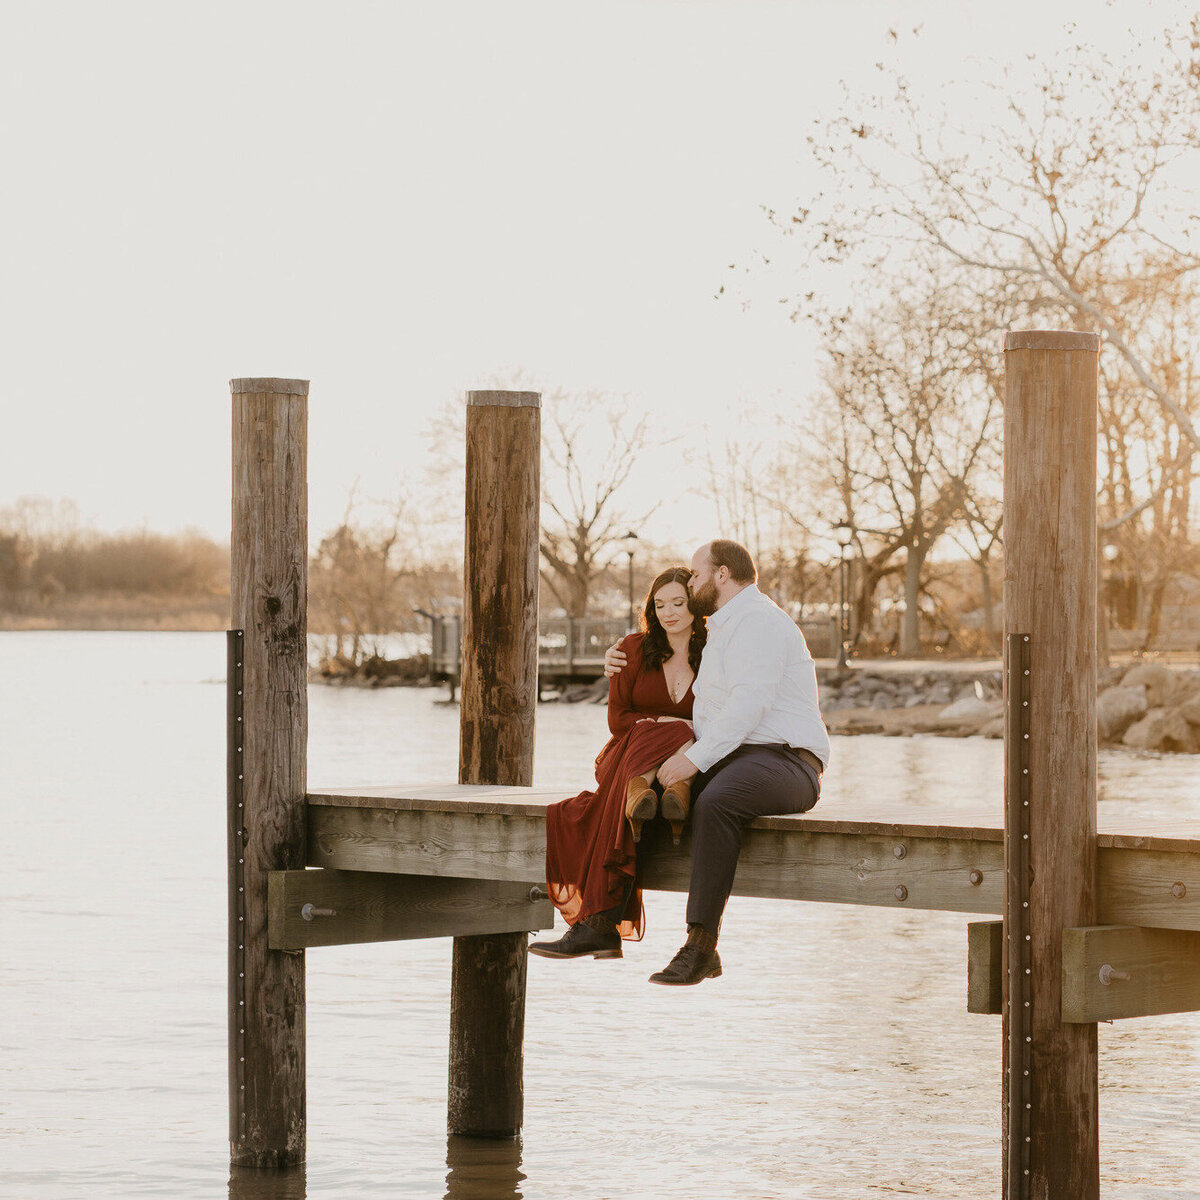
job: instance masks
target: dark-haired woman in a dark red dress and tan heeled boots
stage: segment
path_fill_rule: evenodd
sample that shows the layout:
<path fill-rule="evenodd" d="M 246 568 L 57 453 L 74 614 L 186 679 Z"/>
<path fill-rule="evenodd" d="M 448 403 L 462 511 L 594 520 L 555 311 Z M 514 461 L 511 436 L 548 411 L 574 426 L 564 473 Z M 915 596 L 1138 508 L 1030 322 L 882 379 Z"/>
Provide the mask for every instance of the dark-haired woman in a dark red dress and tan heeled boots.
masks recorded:
<path fill-rule="evenodd" d="M 704 647 L 704 619 L 691 610 L 691 571 L 672 566 L 652 584 L 641 634 L 622 643 L 629 660 L 608 685 L 612 738 L 596 758 L 596 791 L 546 810 L 546 880 L 550 898 L 570 925 L 557 942 L 534 942 L 545 958 L 590 954 L 619 959 L 622 938 L 643 931 L 637 888 L 642 822 L 655 816 L 658 768 L 692 744 L 691 684 Z M 676 844 L 688 816 L 686 784 L 662 796 L 662 815 Z"/>

